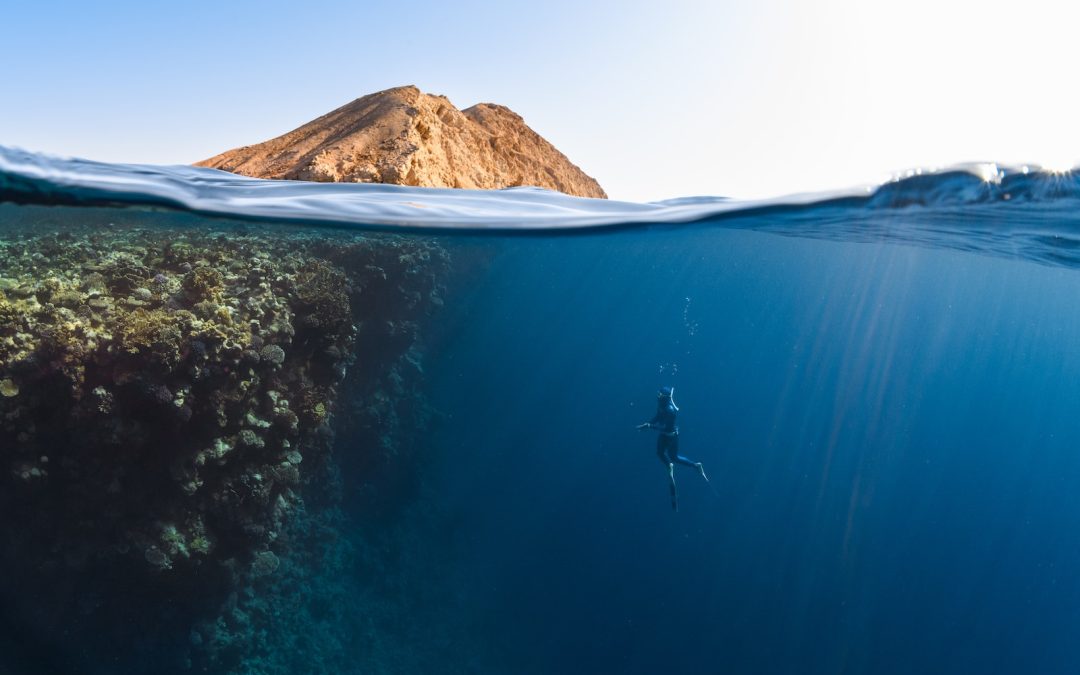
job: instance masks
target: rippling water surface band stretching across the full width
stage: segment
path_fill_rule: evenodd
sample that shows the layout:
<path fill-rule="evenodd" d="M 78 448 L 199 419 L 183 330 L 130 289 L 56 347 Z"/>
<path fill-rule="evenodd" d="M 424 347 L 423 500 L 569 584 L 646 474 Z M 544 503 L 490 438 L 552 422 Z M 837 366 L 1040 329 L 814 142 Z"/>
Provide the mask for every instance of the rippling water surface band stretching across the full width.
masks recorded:
<path fill-rule="evenodd" d="M 1080 173 L 986 163 L 769 200 L 686 197 L 634 203 L 540 188 L 264 180 L 212 168 L 110 164 L 0 146 L 0 202 L 151 206 L 246 220 L 444 233 L 723 222 L 798 237 L 903 241 L 1080 266 Z"/>

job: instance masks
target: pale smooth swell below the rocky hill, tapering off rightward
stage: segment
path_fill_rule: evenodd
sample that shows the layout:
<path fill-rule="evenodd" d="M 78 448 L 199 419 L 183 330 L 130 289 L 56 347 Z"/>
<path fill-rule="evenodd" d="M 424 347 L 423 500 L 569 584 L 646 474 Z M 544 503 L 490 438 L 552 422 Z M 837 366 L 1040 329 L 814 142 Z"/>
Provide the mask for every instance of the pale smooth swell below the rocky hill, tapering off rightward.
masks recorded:
<path fill-rule="evenodd" d="M 0 202 L 161 206 L 260 220 L 404 229 L 567 229 L 678 222 L 733 207 L 712 199 L 637 204 L 541 188 L 456 190 L 248 178 L 197 166 L 109 164 L 0 147 Z"/>

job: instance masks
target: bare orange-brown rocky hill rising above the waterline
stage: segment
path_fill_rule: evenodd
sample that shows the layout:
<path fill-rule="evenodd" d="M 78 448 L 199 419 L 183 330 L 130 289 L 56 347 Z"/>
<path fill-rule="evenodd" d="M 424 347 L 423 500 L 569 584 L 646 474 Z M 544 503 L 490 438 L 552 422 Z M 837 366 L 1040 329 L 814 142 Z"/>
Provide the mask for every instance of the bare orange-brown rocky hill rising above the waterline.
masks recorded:
<path fill-rule="evenodd" d="M 362 98 L 284 136 L 198 163 L 258 178 L 437 188 L 539 186 L 606 198 L 521 116 L 494 104 L 458 110 L 401 86 Z"/>

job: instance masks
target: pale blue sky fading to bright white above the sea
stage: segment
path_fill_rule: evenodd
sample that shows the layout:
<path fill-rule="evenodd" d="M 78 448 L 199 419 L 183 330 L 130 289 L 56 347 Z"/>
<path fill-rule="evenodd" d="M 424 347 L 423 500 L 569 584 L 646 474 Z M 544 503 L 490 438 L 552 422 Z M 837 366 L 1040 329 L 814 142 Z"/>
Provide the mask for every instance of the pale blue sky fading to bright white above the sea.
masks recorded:
<path fill-rule="evenodd" d="M 1061 0 L 0 0 L 0 145 L 191 163 L 416 84 L 509 106 L 616 199 L 1080 160 Z"/>

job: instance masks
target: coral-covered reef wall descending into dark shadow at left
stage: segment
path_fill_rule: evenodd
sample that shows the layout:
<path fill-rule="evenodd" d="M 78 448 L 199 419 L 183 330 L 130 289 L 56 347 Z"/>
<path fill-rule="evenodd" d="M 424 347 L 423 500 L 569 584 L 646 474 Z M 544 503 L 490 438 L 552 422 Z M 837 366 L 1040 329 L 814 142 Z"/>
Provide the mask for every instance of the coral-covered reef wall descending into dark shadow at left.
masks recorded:
<path fill-rule="evenodd" d="M 411 447 L 447 270 L 419 237 L 0 208 L 0 618 L 33 672 L 354 667 L 332 449 Z"/>

